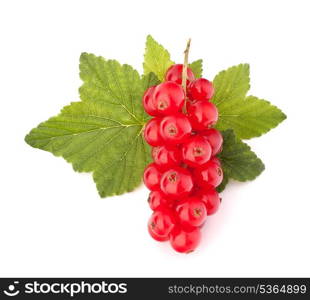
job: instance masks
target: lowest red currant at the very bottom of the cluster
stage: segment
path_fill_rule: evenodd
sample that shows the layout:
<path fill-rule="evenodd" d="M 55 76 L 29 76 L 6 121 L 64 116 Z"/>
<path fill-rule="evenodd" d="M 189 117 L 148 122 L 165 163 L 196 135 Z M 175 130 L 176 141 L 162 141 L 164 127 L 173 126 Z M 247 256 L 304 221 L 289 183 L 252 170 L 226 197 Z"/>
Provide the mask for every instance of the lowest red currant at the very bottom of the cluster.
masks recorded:
<path fill-rule="evenodd" d="M 200 229 L 192 227 L 190 229 L 175 226 L 170 234 L 170 244 L 174 250 L 181 253 L 194 251 L 201 239 Z"/>

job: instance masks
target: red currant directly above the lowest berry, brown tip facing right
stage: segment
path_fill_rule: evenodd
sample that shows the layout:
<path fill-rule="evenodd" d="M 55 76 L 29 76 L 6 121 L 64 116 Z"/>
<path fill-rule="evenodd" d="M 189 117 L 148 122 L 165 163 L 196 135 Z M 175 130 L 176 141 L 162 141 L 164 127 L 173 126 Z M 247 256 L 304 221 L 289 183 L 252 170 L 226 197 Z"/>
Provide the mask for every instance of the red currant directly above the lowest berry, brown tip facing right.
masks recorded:
<path fill-rule="evenodd" d="M 176 207 L 177 216 L 182 226 L 201 226 L 207 218 L 206 205 L 198 197 L 182 200 Z"/>

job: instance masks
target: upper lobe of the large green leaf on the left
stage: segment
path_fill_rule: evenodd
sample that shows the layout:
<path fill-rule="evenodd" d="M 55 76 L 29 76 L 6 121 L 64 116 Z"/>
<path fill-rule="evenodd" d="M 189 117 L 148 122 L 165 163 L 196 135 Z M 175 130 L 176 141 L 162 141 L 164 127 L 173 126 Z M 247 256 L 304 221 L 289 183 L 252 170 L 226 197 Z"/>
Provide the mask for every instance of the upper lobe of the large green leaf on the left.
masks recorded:
<path fill-rule="evenodd" d="M 82 100 L 103 103 L 112 117 L 116 114 L 125 122 L 141 123 L 146 117 L 141 106 L 144 87 L 139 73 L 131 66 L 82 53 L 80 77 L 84 81 L 80 87 Z"/>

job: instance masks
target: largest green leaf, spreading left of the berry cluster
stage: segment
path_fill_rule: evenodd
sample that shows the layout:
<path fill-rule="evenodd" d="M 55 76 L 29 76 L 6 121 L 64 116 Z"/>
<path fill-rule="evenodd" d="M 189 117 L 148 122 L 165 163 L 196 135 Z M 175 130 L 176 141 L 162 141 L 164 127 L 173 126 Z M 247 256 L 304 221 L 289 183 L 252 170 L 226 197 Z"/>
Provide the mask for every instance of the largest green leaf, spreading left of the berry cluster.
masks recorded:
<path fill-rule="evenodd" d="M 102 197 L 132 191 L 150 161 L 142 138 L 146 115 L 141 98 L 156 82 L 154 74 L 143 79 L 128 65 L 82 54 L 82 102 L 34 128 L 26 142 L 72 163 L 74 170 L 93 172 Z"/>

